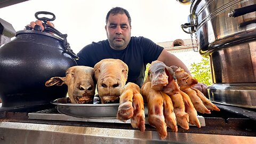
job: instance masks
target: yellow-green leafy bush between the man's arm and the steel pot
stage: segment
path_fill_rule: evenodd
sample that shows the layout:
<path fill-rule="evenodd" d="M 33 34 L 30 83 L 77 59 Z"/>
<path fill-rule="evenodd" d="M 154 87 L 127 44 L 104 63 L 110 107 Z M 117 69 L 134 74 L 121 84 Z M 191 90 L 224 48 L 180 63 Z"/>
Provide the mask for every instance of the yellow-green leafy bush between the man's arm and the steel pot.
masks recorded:
<path fill-rule="evenodd" d="M 211 69 L 209 59 L 203 58 L 199 63 L 192 63 L 190 73 L 198 82 L 210 85 L 212 84 Z"/>

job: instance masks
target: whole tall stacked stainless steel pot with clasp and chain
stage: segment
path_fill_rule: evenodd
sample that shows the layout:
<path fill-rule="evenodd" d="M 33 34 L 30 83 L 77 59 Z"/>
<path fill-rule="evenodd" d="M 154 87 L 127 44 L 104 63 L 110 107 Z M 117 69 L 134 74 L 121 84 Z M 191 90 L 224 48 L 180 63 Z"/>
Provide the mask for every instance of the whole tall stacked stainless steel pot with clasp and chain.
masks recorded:
<path fill-rule="evenodd" d="M 189 22 L 181 27 L 197 35 L 199 53 L 210 59 L 214 84 L 207 89 L 212 101 L 256 108 L 255 11 L 256 0 L 191 3 Z"/>

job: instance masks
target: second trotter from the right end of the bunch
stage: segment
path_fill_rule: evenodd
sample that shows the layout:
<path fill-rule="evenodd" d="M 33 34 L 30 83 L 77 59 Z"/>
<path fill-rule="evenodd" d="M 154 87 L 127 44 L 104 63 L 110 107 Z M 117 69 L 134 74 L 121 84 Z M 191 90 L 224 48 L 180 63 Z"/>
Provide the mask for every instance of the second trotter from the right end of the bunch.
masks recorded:
<path fill-rule="evenodd" d="M 209 109 L 207 109 L 204 104 L 203 101 L 198 97 L 198 95 L 196 94 L 196 91 L 192 90 L 192 89 L 187 89 L 185 92 L 190 100 L 192 101 L 195 109 L 202 114 L 211 114 L 211 111 Z"/>

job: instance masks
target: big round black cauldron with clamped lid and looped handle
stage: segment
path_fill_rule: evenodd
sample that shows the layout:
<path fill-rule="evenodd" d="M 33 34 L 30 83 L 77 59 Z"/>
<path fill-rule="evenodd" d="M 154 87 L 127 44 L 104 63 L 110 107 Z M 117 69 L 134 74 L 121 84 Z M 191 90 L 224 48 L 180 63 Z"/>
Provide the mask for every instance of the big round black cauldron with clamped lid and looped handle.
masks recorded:
<path fill-rule="evenodd" d="M 53 18 L 38 18 L 38 14 L 51 14 Z M 67 35 L 46 24 L 55 19 L 50 12 L 37 12 L 43 20 L 35 30 L 17 31 L 16 37 L 0 47 L 0 98 L 2 107 L 27 107 L 50 103 L 66 97 L 67 86 L 46 87 L 54 76 L 65 76 L 66 69 L 76 66 L 78 58 L 67 43 Z M 54 35 L 55 34 L 55 35 Z"/>

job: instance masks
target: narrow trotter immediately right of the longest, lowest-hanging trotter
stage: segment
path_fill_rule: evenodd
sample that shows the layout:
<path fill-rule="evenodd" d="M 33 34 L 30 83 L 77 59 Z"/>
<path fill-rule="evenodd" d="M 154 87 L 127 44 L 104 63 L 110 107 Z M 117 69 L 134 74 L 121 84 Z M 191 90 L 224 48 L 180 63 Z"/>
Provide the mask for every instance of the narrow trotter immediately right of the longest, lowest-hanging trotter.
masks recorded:
<path fill-rule="evenodd" d="M 164 92 L 161 92 L 164 99 L 164 119 L 168 127 L 172 129 L 173 132 L 178 132 L 177 119 L 173 111 L 172 100 Z"/>

